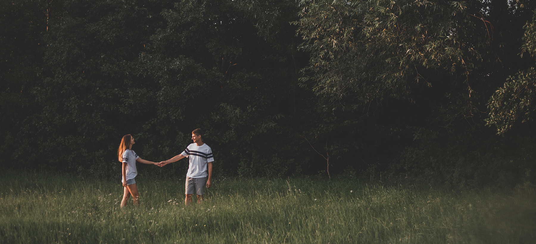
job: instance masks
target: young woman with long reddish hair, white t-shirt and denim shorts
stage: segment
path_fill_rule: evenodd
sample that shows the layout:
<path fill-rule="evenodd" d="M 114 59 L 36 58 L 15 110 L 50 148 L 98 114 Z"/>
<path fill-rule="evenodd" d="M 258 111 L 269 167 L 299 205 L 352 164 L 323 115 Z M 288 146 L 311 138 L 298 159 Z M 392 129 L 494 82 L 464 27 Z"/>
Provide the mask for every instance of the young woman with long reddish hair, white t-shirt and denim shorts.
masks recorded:
<path fill-rule="evenodd" d="M 157 165 L 155 162 L 146 161 L 145 159 L 138 157 L 138 155 L 132 151 L 132 145 L 135 143 L 134 138 L 132 138 L 130 134 L 124 135 L 123 139 L 121 139 L 121 144 L 119 144 L 119 149 L 117 149 L 117 158 L 119 159 L 119 162 L 123 162 L 121 172 L 123 173 L 122 182 L 124 193 L 123 200 L 121 201 L 121 208 L 125 207 L 130 195 L 132 195 L 134 205 L 139 205 L 138 187 L 134 180 L 138 174 L 138 170 L 136 170 L 136 161 L 143 164 Z"/>

